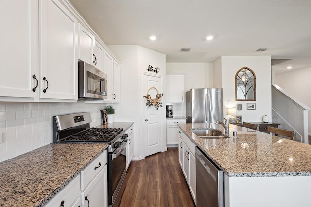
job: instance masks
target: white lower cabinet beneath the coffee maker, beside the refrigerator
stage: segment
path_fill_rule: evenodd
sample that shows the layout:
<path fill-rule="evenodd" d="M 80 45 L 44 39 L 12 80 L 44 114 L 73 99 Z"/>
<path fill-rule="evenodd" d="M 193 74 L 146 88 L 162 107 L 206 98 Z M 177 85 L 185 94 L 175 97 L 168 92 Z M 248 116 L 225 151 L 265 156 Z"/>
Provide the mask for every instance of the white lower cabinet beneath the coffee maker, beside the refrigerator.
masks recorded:
<path fill-rule="evenodd" d="M 178 144 L 177 124 L 186 124 L 186 119 L 166 119 L 166 145 L 167 147 L 176 147 Z"/>

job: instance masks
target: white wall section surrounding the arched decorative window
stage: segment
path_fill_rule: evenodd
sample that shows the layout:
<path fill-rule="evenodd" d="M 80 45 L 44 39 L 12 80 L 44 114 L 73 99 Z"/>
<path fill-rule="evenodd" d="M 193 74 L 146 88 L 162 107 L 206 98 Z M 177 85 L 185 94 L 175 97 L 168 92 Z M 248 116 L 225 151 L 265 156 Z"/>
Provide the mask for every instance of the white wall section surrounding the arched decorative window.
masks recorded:
<path fill-rule="evenodd" d="M 222 88 L 224 89 L 224 115 L 226 107 L 237 107 L 242 103 L 242 120 L 247 122 L 261 122 L 264 115 L 268 115 L 271 122 L 271 56 L 222 56 L 221 61 Z M 256 101 L 235 101 L 235 74 L 242 67 L 252 69 L 256 75 Z M 215 68 L 214 74 L 219 74 Z M 229 104 L 228 104 L 229 101 Z M 247 110 L 246 103 L 256 103 L 256 110 Z"/>

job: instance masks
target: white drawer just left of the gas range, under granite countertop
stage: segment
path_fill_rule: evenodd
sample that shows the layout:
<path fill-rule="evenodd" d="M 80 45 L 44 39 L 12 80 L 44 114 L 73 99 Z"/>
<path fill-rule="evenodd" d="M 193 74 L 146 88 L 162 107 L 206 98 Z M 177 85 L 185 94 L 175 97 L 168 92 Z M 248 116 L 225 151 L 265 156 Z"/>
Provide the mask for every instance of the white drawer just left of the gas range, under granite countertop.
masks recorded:
<path fill-rule="evenodd" d="M 81 171 L 81 190 L 100 172 L 107 163 L 107 150 L 94 159 L 83 171 Z"/>

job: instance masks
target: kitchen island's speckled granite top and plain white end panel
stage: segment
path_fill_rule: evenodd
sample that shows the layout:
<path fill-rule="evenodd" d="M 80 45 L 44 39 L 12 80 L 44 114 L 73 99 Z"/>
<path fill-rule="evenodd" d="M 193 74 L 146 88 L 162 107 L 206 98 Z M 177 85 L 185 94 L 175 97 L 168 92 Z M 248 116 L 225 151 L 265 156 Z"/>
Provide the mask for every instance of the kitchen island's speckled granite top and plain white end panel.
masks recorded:
<path fill-rule="evenodd" d="M 221 125 L 178 127 L 224 171 L 225 207 L 311 206 L 311 145 L 231 124 L 228 139 L 202 139 L 190 130 L 224 132 Z"/>

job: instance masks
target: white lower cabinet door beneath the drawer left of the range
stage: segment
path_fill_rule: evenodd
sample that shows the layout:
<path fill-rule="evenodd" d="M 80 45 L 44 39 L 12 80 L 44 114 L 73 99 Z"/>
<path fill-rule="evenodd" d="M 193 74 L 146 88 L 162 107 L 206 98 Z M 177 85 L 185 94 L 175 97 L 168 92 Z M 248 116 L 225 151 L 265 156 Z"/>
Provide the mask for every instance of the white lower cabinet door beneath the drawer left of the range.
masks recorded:
<path fill-rule="evenodd" d="M 105 165 L 81 192 L 81 207 L 107 207 L 107 193 L 107 165 Z"/>

